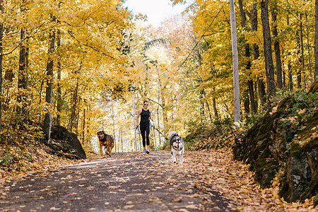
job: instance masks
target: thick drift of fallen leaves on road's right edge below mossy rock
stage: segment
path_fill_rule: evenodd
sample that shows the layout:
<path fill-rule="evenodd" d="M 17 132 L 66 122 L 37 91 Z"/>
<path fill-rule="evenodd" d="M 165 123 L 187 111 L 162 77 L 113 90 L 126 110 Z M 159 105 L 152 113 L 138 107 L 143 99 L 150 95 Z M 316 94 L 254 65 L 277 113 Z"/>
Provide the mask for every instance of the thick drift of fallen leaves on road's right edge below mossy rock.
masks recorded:
<path fill-rule="evenodd" d="M 304 204 L 287 203 L 278 197 L 278 184 L 261 189 L 249 171 L 249 165 L 232 160 L 230 148 L 218 151 L 187 152 L 185 163 L 177 169 L 195 175 L 195 187 L 217 191 L 230 200 L 230 207 L 239 211 L 317 211 L 313 198 Z M 209 193 L 208 193 L 209 194 Z M 206 194 L 205 194 L 206 195 Z M 213 194 L 211 194 L 213 196 Z M 206 195 L 208 199 L 208 195 Z"/>

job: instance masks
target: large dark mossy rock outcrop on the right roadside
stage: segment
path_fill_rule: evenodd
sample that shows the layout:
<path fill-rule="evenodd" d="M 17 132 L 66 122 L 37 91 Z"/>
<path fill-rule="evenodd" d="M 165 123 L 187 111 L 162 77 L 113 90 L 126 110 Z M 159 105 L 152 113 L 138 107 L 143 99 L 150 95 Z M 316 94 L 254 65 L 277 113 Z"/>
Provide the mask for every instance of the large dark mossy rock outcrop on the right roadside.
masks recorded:
<path fill-rule="evenodd" d="M 266 112 L 245 135 L 235 137 L 235 160 L 250 164 L 261 188 L 271 187 L 283 170 L 279 195 L 285 201 L 305 201 L 318 192 L 318 83 Z"/>

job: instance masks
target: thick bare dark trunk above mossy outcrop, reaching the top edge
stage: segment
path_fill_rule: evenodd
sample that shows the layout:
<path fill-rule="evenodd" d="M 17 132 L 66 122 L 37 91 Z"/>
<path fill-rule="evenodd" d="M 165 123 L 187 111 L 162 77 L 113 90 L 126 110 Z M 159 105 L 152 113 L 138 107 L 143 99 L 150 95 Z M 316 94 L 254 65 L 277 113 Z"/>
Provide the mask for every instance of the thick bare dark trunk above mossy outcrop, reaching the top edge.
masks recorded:
<path fill-rule="evenodd" d="M 273 57 L 271 54 L 271 29 L 269 28 L 268 0 L 261 0 L 261 23 L 263 26 L 263 37 L 264 37 L 264 57 L 265 57 L 265 68 L 266 68 L 267 95 L 270 99 L 275 95 L 276 88 L 275 88 L 275 77 L 274 77 L 274 70 L 273 70 Z"/>

